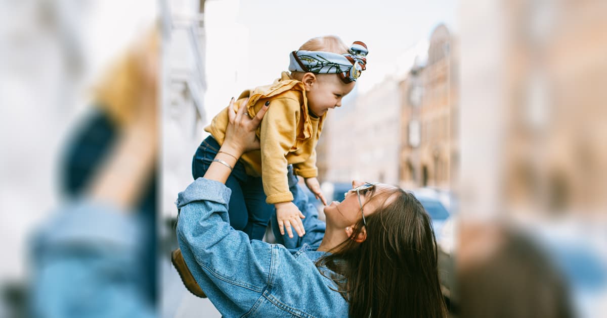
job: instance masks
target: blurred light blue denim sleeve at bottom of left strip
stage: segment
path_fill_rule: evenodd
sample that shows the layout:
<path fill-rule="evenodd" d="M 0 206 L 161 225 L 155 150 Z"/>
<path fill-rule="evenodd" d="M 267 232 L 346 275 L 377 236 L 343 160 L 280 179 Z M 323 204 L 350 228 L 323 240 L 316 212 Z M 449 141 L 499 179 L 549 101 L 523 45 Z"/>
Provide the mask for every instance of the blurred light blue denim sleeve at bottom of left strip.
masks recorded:
<path fill-rule="evenodd" d="M 35 317 L 154 317 L 146 297 L 141 219 L 74 202 L 33 242 Z"/>

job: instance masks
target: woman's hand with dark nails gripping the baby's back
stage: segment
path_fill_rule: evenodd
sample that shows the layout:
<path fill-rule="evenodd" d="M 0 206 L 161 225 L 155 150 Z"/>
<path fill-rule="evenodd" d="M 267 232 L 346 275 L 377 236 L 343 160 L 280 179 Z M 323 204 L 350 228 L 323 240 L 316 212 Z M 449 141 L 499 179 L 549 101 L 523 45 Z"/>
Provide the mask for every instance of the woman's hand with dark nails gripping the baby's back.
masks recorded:
<path fill-rule="evenodd" d="M 259 109 L 253 119 L 246 113 L 246 102 L 240 104 L 237 113 L 234 113 L 234 98 L 229 102 L 228 107 L 228 127 L 226 127 L 226 136 L 222 144 L 222 150 L 240 157 L 243 153 L 260 148 L 259 139 L 255 134 L 263 115 L 270 107 L 269 103 Z M 224 149 L 225 148 L 225 149 Z"/>

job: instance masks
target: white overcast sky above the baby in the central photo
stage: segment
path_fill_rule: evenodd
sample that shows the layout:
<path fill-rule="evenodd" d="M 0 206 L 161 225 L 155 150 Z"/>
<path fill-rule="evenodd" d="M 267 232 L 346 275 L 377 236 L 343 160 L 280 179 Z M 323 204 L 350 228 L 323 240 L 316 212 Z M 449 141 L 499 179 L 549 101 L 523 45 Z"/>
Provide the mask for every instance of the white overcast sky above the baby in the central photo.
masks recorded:
<path fill-rule="evenodd" d="M 457 5 L 456 0 L 208 0 L 209 119 L 240 91 L 270 84 L 287 70 L 288 54 L 314 36 L 337 35 L 347 45 L 367 44 L 367 70 L 357 83 L 364 93 L 424 54 L 436 25 L 444 23 L 456 32 Z"/>

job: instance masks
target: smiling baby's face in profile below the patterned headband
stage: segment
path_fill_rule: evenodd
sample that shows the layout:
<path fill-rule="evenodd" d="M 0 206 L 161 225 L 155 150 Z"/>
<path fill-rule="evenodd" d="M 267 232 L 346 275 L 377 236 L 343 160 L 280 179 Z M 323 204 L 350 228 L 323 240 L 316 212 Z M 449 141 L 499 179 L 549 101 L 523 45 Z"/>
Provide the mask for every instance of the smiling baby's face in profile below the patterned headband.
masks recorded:
<path fill-rule="evenodd" d="M 316 75 L 316 82 L 307 92 L 308 108 L 317 116 L 322 116 L 329 108 L 340 107 L 341 99 L 352 91 L 354 84 L 345 84 L 335 74 Z"/>

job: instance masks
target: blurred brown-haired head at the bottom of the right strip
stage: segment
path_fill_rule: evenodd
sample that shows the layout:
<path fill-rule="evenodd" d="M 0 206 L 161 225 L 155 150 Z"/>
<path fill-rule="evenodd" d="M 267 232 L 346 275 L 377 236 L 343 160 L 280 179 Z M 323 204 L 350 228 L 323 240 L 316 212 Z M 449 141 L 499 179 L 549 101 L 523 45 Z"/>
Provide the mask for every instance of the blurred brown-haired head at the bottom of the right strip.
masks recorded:
<path fill-rule="evenodd" d="M 560 268 L 528 234 L 502 224 L 465 224 L 459 247 L 458 316 L 578 316 Z"/>

